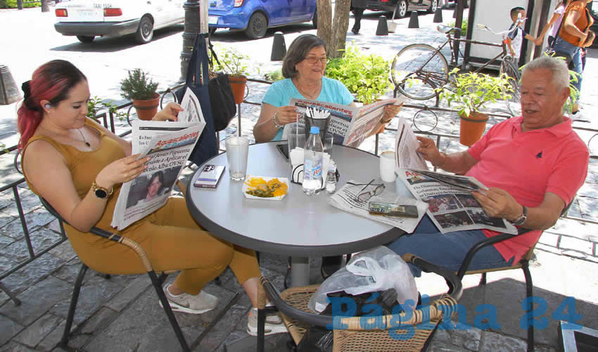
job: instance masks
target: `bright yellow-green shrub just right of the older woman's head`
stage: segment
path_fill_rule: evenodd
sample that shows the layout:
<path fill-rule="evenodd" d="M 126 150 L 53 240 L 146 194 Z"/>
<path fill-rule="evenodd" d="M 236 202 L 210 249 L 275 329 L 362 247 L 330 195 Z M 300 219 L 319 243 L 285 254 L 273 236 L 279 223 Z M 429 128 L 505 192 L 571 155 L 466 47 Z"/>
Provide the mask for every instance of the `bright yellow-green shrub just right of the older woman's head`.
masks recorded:
<path fill-rule="evenodd" d="M 326 65 L 326 77 L 339 80 L 364 104 L 382 96 L 388 88 L 389 63 L 374 54 L 361 54 L 355 44 L 347 46 L 341 58 L 332 58 Z"/>

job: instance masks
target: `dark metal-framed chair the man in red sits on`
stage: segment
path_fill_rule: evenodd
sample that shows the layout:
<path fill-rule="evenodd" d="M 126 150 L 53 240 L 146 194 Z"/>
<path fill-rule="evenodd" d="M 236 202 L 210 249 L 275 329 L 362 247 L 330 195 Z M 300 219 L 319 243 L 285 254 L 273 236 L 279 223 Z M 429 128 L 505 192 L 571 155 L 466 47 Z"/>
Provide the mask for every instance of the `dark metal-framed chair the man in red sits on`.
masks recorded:
<path fill-rule="evenodd" d="M 563 211 L 561 212 L 561 216 L 565 215 L 568 212 L 569 208 L 571 208 L 571 204 L 573 204 L 573 201 L 571 201 L 571 203 L 569 203 L 563 209 Z M 463 279 L 463 277 L 465 275 L 482 274 L 479 286 L 483 286 L 486 284 L 486 273 L 487 272 L 513 270 L 513 269 L 521 268 L 521 270 L 523 270 L 523 275 L 526 277 L 526 296 L 529 299 L 531 296 L 533 296 L 533 283 L 532 283 L 532 275 L 530 273 L 530 260 L 533 256 L 535 244 L 529 249 L 529 251 L 527 251 L 521 257 L 521 260 L 519 260 L 518 263 L 514 263 L 511 266 L 506 266 L 506 267 L 502 267 L 502 268 L 483 269 L 483 270 L 467 270 L 467 268 L 469 268 L 469 264 L 471 263 L 471 260 L 473 259 L 473 256 L 480 249 L 483 249 L 486 246 L 490 246 L 491 244 L 496 244 L 498 242 L 502 242 L 507 239 L 512 239 L 516 236 L 525 234 L 526 232 L 529 232 L 529 231 L 530 230 L 519 229 L 518 234 L 497 234 L 496 236 L 489 237 L 488 239 L 484 239 L 483 241 L 479 241 L 477 244 L 475 244 L 473 247 L 471 247 L 471 249 L 467 252 L 467 255 L 465 256 L 465 259 L 463 260 L 463 263 L 461 264 L 459 271 L 457 271 L 457 277 L 459 278 L 459 280 Z M 529 305 L 528 310 L 526 310 L 526 313 L 530 312 L 531 310 L 533 310 L 532 305 Z M 534 327 L 530 326 L 528 328 L 528 351 L 533 351 L 533 350 L 534 350 Z"/>

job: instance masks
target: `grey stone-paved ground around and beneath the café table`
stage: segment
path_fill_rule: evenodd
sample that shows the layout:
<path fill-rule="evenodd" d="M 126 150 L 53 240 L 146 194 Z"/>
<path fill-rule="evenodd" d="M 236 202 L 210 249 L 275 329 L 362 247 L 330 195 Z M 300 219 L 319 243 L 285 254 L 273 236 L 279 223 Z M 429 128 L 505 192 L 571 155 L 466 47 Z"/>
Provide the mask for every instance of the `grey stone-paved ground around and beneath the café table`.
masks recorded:
<path fill-rule="evenodd" d="M 362 35 L 348 34 L 348 41 L 364 50 L 376 51 L 385 58 L 402 46 L 412 42 L 441 42 L 443 36 L 433 30 L 432 16 L 419 17 L 420 29 L 408 30 L 407 20 L 397 20 L 397 33 L 388 37 L 374 36 L 379 13 L 366 13 L 362 22 Z M 452 11 L 444 11 L 445 20 Z M 445 21 L 446 22 L 446 21 Z M 304 32 L 315 32 L 304 31 Z M 290 44 L 299 33 L 286 34 Z M 226 42 L 224 34 L 217 32 L 215 42 Z M 250 43 L 250 42 L 249 42 Z M 598 77 L 598 51 L 590 50 L 585 70 L 585 90 L 582 108 L 585 118 L 595 108 L 598 90 L 592 85 Z M 262 73 L 279 68 L 280 63 L 260 62 Z M 250 84 L 248 101 L 261 101 L 267 87 L 264 84 Z M 496 104 L 490 111 L 504 113 L 504 106 Z M 251 136 L 251 127 L 257 120 L 259 106 L 243 104 L 241 108 L 241 132 Z M 416 110 L 403 109 L 401 115 L 413 118 Z M 454 114 L 438 113 L 438 132 L 458 134 L 458 121 Z M 419 119 L 419 118 L 418 118 Z M 495 119 L 491 122 L 497 122 Z M 3 121 L 4 122 L 4 121 Z M 431 121 L 423 118 L 420 125 Z M 10 122 L 7 122 L 10 123 Z M 575 125 L 594 126 L 595 123 L 575 122 Z M 126 126 L 121 123 L 119 130 Z M 594 126 L 595 128 L 595 126 Z M 226 134 L 236 133 L 236 119 Z M 226 135 L 224 134 L 224 135 Z M 222 136 L 224 138 L 225 136 Z M 587 141 L 593 133 L 580 132 Z M 381 135 L 381 150 L 392 149 L 394 132 Z M 4 139 L 2 139 L 4 141 Z M 8 144 L 8 143 L 7 143 Z M 450 151 L 463 149 L 455 141 L 443 141 L 441 146 Z M 224 147 L 224 145 L 222 145 Z M 374 151 L 373 138 L 362 145 L 362 149 Z M 0 158 L 0 172 L 3 184 L 20 177 L 12 168 L 11 156 Z M 585 220 L 598 220 L 597 216 L 597 170 L 590 162 L 590 172 L 570 215 Z M 36 251 L 47 248 L 58 241 L 58 224 L 47 213 L 25 184 L 20 186 L 23 208 L 30 224 L 33 246 Z M 544 299 L 546 306 L 540 306 L 538 313 L 546 318 L 547 326 L 536 329 L 536 347 L 539 351 L 556 351 L 558 343 L 558 320 L 561 302 L 568 296 L 575 297 L 575 311 L 581 315 L 578 323 L 598 329 L 598 242 L 597 225 L 578 220 L 561 219 L 542 235 L 531 265 L 535 295 Z M 14 206 L 12 192 L 0 194 L 0 268 L 8 270 L 27 258 L 27 248 L 20 229 L 18 213 Z M 319 259 L 312 258 L 311 280 L 321 282 Z M 286 273 L 287 258 L 262 253 L 260 265 L 264 275 L 274 277 L 281 289 Z M 0 351 L 61 351 L 56 348 L 68 310 L 72 284 L 79 269 L 79 260 L 70 244 L 64 242 L 34 262 L 25 265 L 2 283 L 15 291 L 23 301 L 14 306 L 4 292 L 0 292 Z M 172 280 L 172 277 L 169 277 Z M 431 351 L 523 351 L 526 348 L 526 331 L 520 327 L 523 317 L 521 302 L 525 297 L 525 284 L 521 271 L 496 272 L 488 275 L 488 284 L 478 287 L 478 275 L 464 279 L 464 295 L 459 301 L 466 308 L 466 322 L 480 326 L 485 323 L 485 314 L 496 307 L 497 324 L 488 329 L 465 329 L 438 331 L 433 338 Z M 206 290 L 219 296 L 222 305 L 203 315 L 177 313 L 189 344 L 194 351 L 248 351 L 238 341 L 248 336 L 245 332 L 248 298 L 236 282 L 230 270 L 221 277 L 222 285 L 208 284 Z M 417 280 L 423 294 L 436 296 L 446 290 L 445 283 L 434 275 L 424 275 Z M 490 306 L 481 306 L 482 304 Z M 568 309 L 572 307 L 569 306 Z M 562 312 L 561 312 L 562 313 Z M 488 320 L 492 323 L 492 319 Z M 268 351 L 286 351 L 288 335 L 278 334 L 267 339 Z M 70 347 L 81 351 L 178 351 L 177 340 L 172 333 L 163 310 L 158 306 L 153 287 L 146 275 L 122 275 L 106 279 L 88 272 L 79 298 L 75 325 Z"/>

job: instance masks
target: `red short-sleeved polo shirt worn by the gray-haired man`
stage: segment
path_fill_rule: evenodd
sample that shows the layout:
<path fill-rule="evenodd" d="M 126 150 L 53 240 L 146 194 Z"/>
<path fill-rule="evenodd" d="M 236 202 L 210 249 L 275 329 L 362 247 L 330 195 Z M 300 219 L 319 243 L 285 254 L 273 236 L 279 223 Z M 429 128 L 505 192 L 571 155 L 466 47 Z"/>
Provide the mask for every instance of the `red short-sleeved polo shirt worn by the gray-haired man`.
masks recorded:
<path fill-rule="evenodd" d="M 546 192 L 571 203 L 582 186 L 590 153 L 585 143 L 571 129 L 570 118 L 540 130 L 521 131 L 523 118 L 511 118 L 494 125 L 468 150 L 478 163 L 467 172 L 486 187 L 509 192 L 523 206 L 534 208 Z M 499 232 L 483 230 L 486 237 Z M 499 242 L 494 246 L 504 260 L 517 263 L 542 231 L 533 230 Z"/>

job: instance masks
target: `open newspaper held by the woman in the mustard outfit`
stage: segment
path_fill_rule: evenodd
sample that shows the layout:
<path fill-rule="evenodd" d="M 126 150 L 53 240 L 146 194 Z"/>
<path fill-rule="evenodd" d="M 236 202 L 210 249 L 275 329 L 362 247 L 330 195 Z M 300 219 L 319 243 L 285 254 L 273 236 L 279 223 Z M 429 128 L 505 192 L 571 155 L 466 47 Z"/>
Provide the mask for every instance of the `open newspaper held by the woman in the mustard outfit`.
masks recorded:
<path fill-rule="evenodd" d="M 164 206 L 174 182 L 205 127 L 199 102 L 189 89 L 182 100 L 178 122 L 135 120 L 132 153 L 151 159 L 134 180 L 122 184 L 111 225 L 122 230 Z"/>

